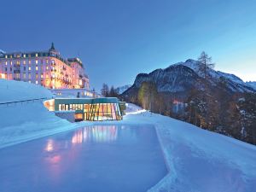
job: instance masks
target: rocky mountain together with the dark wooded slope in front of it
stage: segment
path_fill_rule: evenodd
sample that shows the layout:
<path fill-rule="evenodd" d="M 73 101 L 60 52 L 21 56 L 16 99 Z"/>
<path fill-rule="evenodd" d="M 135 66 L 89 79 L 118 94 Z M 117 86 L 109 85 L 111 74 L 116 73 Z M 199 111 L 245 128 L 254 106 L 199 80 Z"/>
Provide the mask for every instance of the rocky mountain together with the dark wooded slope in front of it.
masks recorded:
<path fill-rule="evenodd" d="M 139 73 L 121 98 L 154 113 L 256 144 L 256 106 L 247 108 L 256 90 L 234 74 L 207 68 L 205 78 L 200 69 L 199 61 L 189 59 L 151 73 Z"/>

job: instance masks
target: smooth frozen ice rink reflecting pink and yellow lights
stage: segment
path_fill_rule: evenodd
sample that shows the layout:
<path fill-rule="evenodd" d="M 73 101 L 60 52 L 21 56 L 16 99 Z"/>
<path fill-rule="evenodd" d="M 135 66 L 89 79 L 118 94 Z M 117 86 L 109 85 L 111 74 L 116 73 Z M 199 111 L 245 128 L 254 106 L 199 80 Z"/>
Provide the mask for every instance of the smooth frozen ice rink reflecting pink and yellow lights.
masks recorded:
<path fill-rule="evenodd" d="M 0 149 L 0 191 L 142 192 L 167 170 L 152 125 L 92 125 Z"/>

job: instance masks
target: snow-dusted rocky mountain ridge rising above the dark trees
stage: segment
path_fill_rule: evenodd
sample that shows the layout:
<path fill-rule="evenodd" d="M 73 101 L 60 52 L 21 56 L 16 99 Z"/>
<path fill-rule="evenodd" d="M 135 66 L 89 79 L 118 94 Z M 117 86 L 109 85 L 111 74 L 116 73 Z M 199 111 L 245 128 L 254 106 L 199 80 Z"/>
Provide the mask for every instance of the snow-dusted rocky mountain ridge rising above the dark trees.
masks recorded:
<path fill-rule="evenodd" d="M 178 62 L 166 67 L 165 69 L 156 69 L 151 73 L 140 73 L 137 75 L 132 87 L 139 88 L 143 82 L 154 82 L 157 90 L 160 92 L 177 93 L 181 91 L 195 89 L 203 89 L 203 74 L 199 69 L 200 62 L 195 60 L 187 60 Z M 248 86 L 240 78 L 234 74 L 223 73 L 208 69 L 210 78 L 208 83 L 212 87 L 218 87 L 218 84 L 224 82 L 230 92 L 253 92 L 253 88 Z"/>

